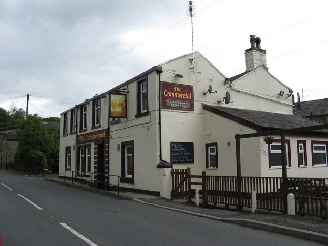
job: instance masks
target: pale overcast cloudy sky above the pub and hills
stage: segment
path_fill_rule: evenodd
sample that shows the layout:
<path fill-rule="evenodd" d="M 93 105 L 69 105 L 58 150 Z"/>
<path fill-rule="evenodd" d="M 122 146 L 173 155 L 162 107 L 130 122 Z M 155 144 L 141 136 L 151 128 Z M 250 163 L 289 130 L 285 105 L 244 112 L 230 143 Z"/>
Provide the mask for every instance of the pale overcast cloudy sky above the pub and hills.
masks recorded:
<path fill-rule="evenodd" d="M 0 0 L 0 107 L 60 113 L 192 52 L 187 0 Z M 328 97 L 327 0 L 193 1 L 194 50 L 224 75 L 245 71 L 249 36 L 269 72 L 304 96 Z"/>

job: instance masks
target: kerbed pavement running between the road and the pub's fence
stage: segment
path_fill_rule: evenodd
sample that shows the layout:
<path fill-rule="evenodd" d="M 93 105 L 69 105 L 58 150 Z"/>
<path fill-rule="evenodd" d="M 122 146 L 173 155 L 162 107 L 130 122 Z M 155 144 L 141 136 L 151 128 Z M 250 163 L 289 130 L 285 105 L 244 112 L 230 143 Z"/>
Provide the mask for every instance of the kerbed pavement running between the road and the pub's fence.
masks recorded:
<path fill-rule="evenodd" d="M 317 217 L 291 216 L 275 212 L 258 211 L 256 213 L 238 212 L 226 209 L 214 209 L 197 207 L 195 204 L 187 203 L 184 200 L 168 200 L 158 196 L 133 193 L 133 192 L 108 192 L 80 186 L 78 183 L 71 183 L 57 177 L 39 177 L 49 181 L 63 183 L 68 186 L 75 186 L 80 189 L 88 189 L 122 199 L 131 199 L 150 206 L 157 206 L 164 209 L 188 213 L 195 216 L 206 217 L 224 222 L 236 223 L 254 229 L 270 231 L 274 233 L 294 236 L 297 238 L 309 239 L 328 245 L 328 220 Z"/>

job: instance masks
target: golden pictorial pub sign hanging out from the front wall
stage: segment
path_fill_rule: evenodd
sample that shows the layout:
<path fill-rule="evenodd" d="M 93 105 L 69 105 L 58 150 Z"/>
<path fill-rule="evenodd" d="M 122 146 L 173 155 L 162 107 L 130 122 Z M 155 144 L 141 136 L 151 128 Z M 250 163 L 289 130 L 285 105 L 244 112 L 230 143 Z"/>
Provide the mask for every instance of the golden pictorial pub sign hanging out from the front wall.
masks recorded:
<path fill-rule="evenodd" d="M 127 118 L 127 95 L 110 94 L 110 118 Z"/>

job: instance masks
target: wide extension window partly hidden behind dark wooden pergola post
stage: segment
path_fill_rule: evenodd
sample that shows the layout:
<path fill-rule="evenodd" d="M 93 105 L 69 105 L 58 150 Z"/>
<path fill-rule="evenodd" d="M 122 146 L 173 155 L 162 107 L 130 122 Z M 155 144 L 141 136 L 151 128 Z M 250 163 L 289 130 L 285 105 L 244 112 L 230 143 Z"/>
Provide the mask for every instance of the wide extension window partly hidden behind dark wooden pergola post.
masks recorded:
<path fill-rule="evenodd" d="M 286 140 L 285 143 L 286 143 L 287 167 L 290 167 L 291 166 L 290 141 Z M 270 146 L 270 148 L 269 148 L 269 168 L 282 168 L 280 140 L 275 140 L 269 146 Z"/>

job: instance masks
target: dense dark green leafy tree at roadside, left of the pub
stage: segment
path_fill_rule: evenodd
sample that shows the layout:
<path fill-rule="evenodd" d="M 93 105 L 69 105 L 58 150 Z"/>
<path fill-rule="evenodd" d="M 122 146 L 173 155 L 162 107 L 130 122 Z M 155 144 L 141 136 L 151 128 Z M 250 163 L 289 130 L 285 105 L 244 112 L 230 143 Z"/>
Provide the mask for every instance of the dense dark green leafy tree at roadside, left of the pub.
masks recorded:
<path fill-rule="evenodd" d="M 20 120 L 17 136 L 15 160 L 24 163 L 25 171 L 41 173 L 51 161 L 51 147 L 54 146 L 42 118 L 35 114 Z"/>

